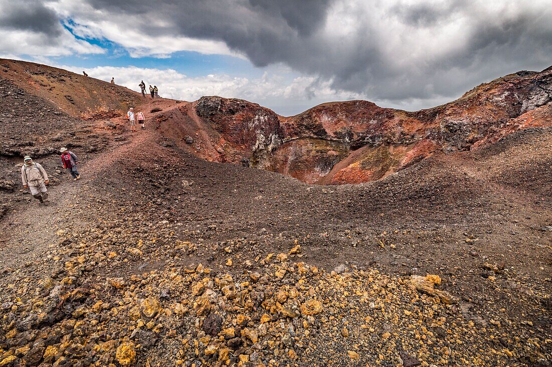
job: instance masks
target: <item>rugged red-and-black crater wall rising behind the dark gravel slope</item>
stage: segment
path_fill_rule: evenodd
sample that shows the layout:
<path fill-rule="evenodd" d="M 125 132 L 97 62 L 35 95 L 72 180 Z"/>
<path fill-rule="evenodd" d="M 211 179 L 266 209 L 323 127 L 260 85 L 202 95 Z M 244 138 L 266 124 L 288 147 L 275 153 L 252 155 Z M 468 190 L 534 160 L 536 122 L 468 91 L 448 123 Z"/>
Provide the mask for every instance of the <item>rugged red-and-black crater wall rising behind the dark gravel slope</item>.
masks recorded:
<path fill-rule="evenodd" d="M 184 131 L 173 132 L 176 142 L 209 161 L 251 164 L 307 183 L 361 183 L 436 154 L 551 126 L 551 95 L 552 67 L 508 75 L 417 112 L 353 100 L 283 117 L 245 100 L 203 97 L 159 121 L 164 131 Z"/>

